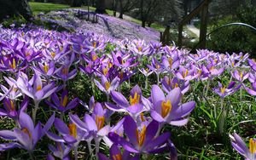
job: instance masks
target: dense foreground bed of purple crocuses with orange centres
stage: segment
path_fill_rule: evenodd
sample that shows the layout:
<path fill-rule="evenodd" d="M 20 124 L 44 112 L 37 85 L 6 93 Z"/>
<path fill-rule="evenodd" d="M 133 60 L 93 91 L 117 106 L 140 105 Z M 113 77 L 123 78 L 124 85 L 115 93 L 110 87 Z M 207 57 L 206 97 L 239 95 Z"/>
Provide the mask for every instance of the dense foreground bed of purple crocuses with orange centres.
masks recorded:
<path fill-rule="evenodd" d="M 54 141 L 48 146 L 49 159 L 69 159 L 71 151 L 77 159 L 81 141 L 86 142 L 88 155 L 99 159 L 139 159 L 162 152 L 175 159 L 177 151 L 172 136 L 161 130 L 165 124 L 188 123 L 195 101 L 184 101 L 183 96 L 189 92 L 191 82 L 206 81 L 202 94 L 207 97 L 213 79 L 230 72 L 227 87 L 219 82 L 212 89 L 222 104 L 224 97 L 239 89 L 256 95 L 256 64 L 248 59 L 248 54 L 218 54 L 208 50 L 189 54 L 186 50 L 143 40 L 114 41 L 94 33 L 42 29 L 0 28 L 0 37 L 0 70 L 4 79 L 0 113 L 15 123 L 15 129 L 0 131 L 1 138 L 12 141 L 1 144 L 0 150 L 20 147 L 32 159 L 33 150 L 44 135 Z M 92 95 L 99 89 L 107 97 L 106 102 L 96 102 L 92 96 L 83 118 L 71 112 L 81 100 L 71 100 L 72 95 L 68 94 L 68 83 L 78 73 L 91 81 Z M 156 79 L 148 83 L 153 73 Z M 138 85 L 131 88 L 130 94 L 122 94 L 121 86 L 130 83 L 135 74 L 144 76 L 145 85 L 141 88 L 151 89 L 150 96 L 143 96 Z M 253 88 L 246 86 L 247 79 Z M 53 110 L 43 125 L 38 114 L 45 110 L 41 107 L 45 104 Z M 218 111 L 214 112 L 217 117 Z M 118 114 L 119 119 L 113 119 L 113 114 Z M 252 154 L 248 154 L 237 137 L 233 142 L 235 149 L 241 148 L 241 154 L 254 158 L 255 140 L 250 140 Z M 103 154 L 106 151 L 101 151 L 100 146 L 109 147 L 110 157 Z"/>

